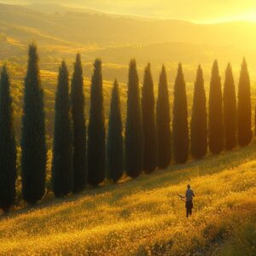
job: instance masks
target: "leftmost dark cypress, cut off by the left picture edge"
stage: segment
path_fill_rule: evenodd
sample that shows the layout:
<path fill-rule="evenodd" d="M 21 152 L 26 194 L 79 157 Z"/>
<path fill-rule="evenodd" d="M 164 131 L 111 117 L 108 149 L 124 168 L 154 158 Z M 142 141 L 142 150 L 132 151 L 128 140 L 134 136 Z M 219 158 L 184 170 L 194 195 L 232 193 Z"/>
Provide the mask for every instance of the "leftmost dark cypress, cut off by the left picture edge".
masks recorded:
<path fill-rule="evenodd" d="M 7 67 L 0 79 L 0 208 L 8 211 L 15 203 L 16 144 L 12 99 Z"/>

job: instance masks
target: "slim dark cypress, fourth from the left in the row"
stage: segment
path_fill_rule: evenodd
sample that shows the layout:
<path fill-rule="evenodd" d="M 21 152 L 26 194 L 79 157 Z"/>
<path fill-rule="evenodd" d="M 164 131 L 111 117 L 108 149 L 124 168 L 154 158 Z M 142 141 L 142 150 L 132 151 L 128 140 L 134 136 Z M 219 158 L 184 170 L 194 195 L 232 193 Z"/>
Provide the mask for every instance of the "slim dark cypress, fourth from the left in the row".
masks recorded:
<path fill-rule="evenodd" d="M 73 192 L 84 189 L 87 179 L 84 80 L 81 56 L 76 56 L 71 83 L 73 117 Z"/>

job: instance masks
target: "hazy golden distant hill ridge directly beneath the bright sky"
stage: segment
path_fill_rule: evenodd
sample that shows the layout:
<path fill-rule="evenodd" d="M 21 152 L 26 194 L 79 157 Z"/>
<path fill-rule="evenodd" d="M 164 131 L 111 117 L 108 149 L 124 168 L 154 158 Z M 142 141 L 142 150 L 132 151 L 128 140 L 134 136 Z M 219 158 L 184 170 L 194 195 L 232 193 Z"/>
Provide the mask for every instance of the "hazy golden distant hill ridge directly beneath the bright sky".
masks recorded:
<path fill-rule="evenodd" d="M 49 11 L 49 10 L 52 11 Z M 254 48 L 256 25 L 230 22 L 201 25 L 183 20 L 150 20 L 107 15 L 59 5 L 0 4 L 0 22 L 25 26 L 78 44 L 107 45 L 187 42 Z M 20 38 L 21 40 L 22 38 Z"/>

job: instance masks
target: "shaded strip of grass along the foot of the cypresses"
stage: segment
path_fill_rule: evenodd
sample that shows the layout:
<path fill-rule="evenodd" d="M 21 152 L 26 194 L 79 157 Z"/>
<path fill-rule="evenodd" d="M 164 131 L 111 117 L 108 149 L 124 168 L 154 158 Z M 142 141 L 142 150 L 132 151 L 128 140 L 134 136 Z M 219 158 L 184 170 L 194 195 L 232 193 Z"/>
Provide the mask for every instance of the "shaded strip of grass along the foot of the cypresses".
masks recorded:
<path fill-rule="evenodd" d="M 203 177 L 214 173 L 222 172 L 225 169 L 232 169 L 256 158 L 256 143 L 250 144 L 246 148 L 237 148 L 230 152 L 218 155 L 208 155 L 202 160 L 191 160 L 187 164 L 170 166 L 167 170 L 157 170 L 150 175 L 142 174 L 136 179 L 124 177 L 119 183 L 102 183 L 96 188 L 86 188 L 79 194 L 67 195 L 65 198 L 55 198 L 53 193 L 34 206 L 26 205 L 18 207 L 15 211 L 3 212 L 0 220 L 5 218 L 15 218 L 18 214 L 37 211 L 42 208 L 58 206 L 63 203 L 77 201 L 85 196 L 103 195 L 111 193 L 108 203 L 123 198 L 124 196 L 137 193 L 137 191 L 147 191 L 168 187 L 182 182 L 189 182 L 193 177 Z"/>

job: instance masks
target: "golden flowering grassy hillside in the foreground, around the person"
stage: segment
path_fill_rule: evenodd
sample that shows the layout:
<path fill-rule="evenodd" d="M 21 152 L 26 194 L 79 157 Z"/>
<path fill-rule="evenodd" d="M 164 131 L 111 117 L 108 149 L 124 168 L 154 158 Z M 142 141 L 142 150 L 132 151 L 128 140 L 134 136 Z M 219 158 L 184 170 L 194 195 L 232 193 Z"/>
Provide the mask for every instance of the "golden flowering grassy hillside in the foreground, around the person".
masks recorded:
<path fill-rule="evenodd" d="M 256 144 L 0 218 L 0 254 L 255 255 Z M 192 218 L 183 193 L 195 190 Z M 190 254 L 189 254 L 190 253 Z"/>

